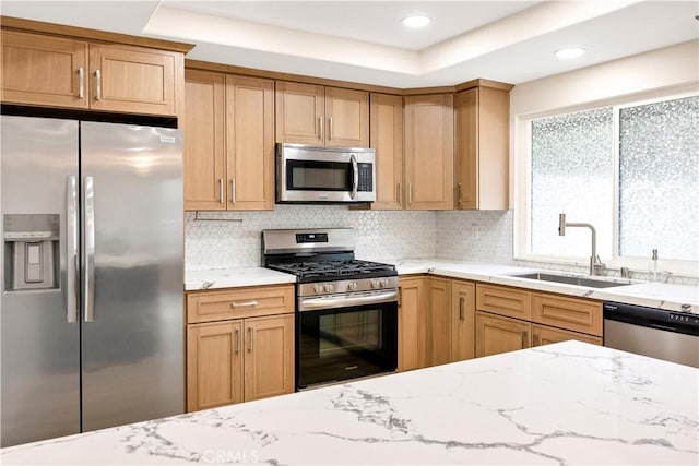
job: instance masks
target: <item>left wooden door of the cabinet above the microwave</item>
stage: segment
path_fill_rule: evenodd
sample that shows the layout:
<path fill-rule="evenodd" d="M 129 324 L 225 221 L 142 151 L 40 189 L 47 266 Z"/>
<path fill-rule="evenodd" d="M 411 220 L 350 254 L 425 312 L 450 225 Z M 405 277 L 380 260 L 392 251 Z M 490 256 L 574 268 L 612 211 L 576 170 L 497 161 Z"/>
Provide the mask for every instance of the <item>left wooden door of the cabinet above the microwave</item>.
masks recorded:
<path fill-rule="evenodd" d="M 324 88 L 276 82 L 276 142 L 324 144 Z"/>

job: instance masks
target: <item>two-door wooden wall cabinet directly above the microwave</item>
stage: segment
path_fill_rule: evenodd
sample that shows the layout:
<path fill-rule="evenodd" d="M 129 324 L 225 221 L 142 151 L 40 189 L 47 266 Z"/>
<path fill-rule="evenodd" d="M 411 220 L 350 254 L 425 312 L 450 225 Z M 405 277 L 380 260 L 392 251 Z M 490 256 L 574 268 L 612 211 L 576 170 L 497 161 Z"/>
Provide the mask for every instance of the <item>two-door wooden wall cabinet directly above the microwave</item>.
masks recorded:
<path fill-rule="evenodd" d="M 369 94 L 276 82 L 276 142 L 369 146 Z"/>

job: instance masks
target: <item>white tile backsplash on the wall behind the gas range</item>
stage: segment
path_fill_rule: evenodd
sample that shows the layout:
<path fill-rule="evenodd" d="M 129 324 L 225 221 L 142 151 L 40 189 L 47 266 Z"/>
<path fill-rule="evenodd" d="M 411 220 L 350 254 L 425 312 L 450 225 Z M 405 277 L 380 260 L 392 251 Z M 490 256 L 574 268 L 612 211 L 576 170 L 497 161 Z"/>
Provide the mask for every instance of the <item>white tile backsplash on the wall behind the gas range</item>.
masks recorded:
<path fill-rule="evenodd" d="M 275 205 L 273 212 L 185 214 L 187 268 L 258 266 L 262 230 L 339 228 L 356 230 L 358 259 L 395 262 L 437 255 L 435 212 L 351 211 L 345 205 Z"/>

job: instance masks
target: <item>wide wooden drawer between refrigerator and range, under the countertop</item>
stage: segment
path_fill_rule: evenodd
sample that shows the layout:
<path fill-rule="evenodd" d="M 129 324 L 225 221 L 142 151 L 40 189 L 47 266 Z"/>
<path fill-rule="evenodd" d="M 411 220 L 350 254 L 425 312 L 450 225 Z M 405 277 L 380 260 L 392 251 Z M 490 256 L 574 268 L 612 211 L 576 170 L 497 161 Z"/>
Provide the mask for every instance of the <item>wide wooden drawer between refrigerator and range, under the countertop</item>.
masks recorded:
<path fill-rule="evenodd" d="M 187 322 L 212 322 L 294 312 L 294 286 L 236 288 L 187 295 Z"/>

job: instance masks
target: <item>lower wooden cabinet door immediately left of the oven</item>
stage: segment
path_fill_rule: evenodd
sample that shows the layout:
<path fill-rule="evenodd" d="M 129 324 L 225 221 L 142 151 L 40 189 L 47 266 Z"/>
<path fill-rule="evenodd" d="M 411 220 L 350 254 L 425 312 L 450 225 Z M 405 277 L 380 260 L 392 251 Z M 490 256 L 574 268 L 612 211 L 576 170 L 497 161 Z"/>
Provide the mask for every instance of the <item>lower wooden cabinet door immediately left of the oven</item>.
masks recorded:
<path fill-rule="evenodd" d="M 245 320 L 245 401 L 294 392 L 294 314 Z"/>

